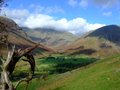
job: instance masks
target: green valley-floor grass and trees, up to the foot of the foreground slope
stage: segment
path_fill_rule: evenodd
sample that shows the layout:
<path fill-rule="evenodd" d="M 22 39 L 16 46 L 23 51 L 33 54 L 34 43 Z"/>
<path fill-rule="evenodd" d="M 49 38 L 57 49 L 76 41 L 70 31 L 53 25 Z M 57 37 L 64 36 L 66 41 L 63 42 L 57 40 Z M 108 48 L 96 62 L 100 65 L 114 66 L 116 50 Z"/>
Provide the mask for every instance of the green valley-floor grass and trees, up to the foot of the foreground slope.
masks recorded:
<path fill-rule="evenodd" d="M 37 90 L 40 86 L 49 85 L 51 82 L 58 80 L 58 78 L 64 77 L 63 74 L 60 73 L 64 73 L 67 71 L 72 72 L 73 69 L 76 69 L 81 66 L 85 66 L 94 61 L 96 61 L 96 59 L 89 58 L 86 56 L 74 56 L 74 57 L 49 56 L 47 58 L 36 59 L 37 69 L 35 74 L 37 78 L 34 78 L 30 82 L 28 90 Z M 27 75 L 26 73 L 27 71 L 28 71 L 28 64 L 23 63 L 21 61 L 17 65 L 17 68 L 14 72 L 14 77 L 15 76 L 21 77 L 20 73 L 22 73 L 22 77 L 24 77 L 25 75 Z M 41 76 L 45 74 L 47 74 L 47 79 L 46 80 L 41 79 Z M 25 85 L 26 85 L 25 83 L 21 84 L 17 90 L 23 90 L 25 88 Z"/>

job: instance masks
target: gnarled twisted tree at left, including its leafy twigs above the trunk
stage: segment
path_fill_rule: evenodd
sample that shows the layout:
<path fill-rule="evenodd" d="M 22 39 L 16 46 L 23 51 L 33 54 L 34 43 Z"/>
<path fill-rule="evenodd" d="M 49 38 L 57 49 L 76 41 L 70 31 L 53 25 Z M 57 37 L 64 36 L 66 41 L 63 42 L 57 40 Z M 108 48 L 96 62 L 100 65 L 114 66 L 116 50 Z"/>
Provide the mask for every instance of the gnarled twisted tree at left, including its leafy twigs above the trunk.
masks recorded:
<path fill-rule="evenodd" d="M 4 4 L 5 0 L 0 0 L 0 9 Z M 25 81 L 28 85 L 29 81 L 32 80 L 35 71 L 35 60 L 33 55 L 30 54 L 30 52 L 37 48 L 39 44 L 36 44 L 32 47 L 28 47 L 26 49 L 15 49 L 16 46 L 8 42 L 9 31 L 6 29 L 6 27 L 7 25 L 0 22 L 0 48 L 3 46 L 8 50 L 7 58 L 4 58 L 3 54 L 0 53 L 0 61 L 2 62 L 1 84 L 2 90 L 16 90 L 21 82 Z M 14 86 L 12 81 L 10 80 L 10 76 L 12 75 L 15 69 L 16 63 L 23 56 L 26 57 L 26 59 L 22 60 L 30 64 L 30 72 L 28 77 L 18 81 L 18 83 Z"/>

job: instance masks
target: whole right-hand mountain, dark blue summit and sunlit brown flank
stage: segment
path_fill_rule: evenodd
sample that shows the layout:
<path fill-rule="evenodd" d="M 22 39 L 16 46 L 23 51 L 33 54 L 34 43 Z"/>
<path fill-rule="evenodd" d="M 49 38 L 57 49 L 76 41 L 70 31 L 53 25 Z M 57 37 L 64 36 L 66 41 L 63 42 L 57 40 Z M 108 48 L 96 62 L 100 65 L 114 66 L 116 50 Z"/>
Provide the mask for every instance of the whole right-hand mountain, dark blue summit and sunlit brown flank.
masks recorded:
<path fill-rule="evenodd" d="M 104 26 L 83 36 L 64 48 L 62 46 L 61 52 L 97 57 L 120 53 L 120 27 L 117 25 Z"/>

